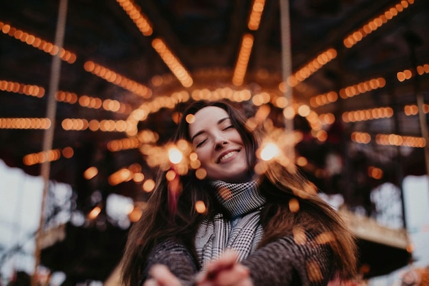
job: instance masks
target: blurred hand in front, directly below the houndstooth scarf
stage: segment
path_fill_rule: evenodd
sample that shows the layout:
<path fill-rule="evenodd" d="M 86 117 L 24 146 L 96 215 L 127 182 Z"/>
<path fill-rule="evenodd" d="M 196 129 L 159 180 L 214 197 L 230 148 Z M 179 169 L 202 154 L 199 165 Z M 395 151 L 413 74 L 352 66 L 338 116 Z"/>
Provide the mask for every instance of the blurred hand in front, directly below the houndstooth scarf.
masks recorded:
<path fill-rule="evenodd" d="M 207 265 L 207 271 L 198 274 L 197 286 L 253 286 L 249 270 L 236 262 L 236 252 L 227 250 Z"/>

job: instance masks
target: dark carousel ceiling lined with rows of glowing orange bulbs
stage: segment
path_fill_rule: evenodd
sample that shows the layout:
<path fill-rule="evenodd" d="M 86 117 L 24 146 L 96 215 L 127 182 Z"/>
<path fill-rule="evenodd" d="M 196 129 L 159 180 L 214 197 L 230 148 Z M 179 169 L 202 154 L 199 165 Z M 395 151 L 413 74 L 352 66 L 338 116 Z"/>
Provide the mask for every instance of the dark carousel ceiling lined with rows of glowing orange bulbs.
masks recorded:
<path fill-rule="evenodd" d="M 201 98 L 269 106 L 278 127 L 296 114 L 299 166 L 349 203 L 426 172 L 429 1 L 73 0 L 64 25 L 59 2 L 0 3 L 0 159 L 32 175 L 51 161 L 82 209 L 94 190 L 141 200 L 153 179 L 143 149 L 167 142 L 182 105 Z"/>

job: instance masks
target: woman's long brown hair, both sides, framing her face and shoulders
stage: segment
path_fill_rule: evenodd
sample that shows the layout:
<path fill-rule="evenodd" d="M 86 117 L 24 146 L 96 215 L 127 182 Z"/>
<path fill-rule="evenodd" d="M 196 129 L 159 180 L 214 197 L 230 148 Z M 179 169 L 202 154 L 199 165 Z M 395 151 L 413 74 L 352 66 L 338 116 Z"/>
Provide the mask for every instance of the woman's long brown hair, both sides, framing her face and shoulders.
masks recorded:
<path fill-rule="evenodd" d="M 217 106 L 224 109 L 232 121 L 232 125 L 240 133 L 245 150 L 249 172 L 253 172 L 256 165 L 256 150 L 258 140 L 255 133 L 247 129 L 247 118 L 238 111 L 235 105 L 228 101 L 197 101 L 190 105 L 182 114 L 182 118 L 173 135 L 172 141 L 190 141 L 186 115 L 195 114 L 208 106 Z M 330 245 L 334 252 L 334 265 L 343 277 L 352 276 L 356 270 L 356 248 L 350 231 L 344 226 L 337 213 L 316 194 L 304 192 L 310 183 L 299 174 L 289 172 L 280 164 L 270 164 L 261 178 L 261 192 L 267 197 L 267 205 L 261 213 L 261 223 L 265 235 L 260 243 L 263 246 L 278 237 L 290 235 L 296 226 L 302 229 L 330 233 Z M 168 207 L 168 187 L 165 171 L 159 171 L 156 187 L 147 202 L 143 216 L 130 229 L 125 252 L 122 259 L 122 281 L 125 285 L 136 285 L 140 280 L 141 270 L 145 259 L 158 242 L 169 237 L 176 237 L 190 250 L 195 259 L 194 239 L 197 227 L 205 216 L 212 216 L 217 209 L 217 202 L 210 192 L 210 184 L 206 180 L 195 178 L 191 170 L 180 177 L 182 192 L 177 198 L 174 216 Z M 303 198 L 299 192 L 305 193 Z M 291 212 L 289 203 L 295 198 L 299 203 L 299 211 Z M 195 211 L 195 203 L 202 200 L 206 213 Z"/>

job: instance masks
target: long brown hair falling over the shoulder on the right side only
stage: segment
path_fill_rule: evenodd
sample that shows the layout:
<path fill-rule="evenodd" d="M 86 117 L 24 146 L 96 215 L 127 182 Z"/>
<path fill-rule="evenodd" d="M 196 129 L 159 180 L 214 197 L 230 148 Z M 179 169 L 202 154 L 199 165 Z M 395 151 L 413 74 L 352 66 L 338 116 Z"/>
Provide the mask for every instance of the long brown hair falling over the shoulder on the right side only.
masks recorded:
<path fill-rule="evenodd" d="M 317 195 L 317 189 L 300 172 L 290 172 L 276 161 L 262 176 L 260 192 L 267 198 L 260 221 L 264 237 L 259 247 L 284 235 L 306 231 L 318 244 L 329 244 L 339 278 L 356 275 L 357 248 L 354 235 L 339 213 Z M 310 238 L 309 238 L 310 239 Z"/>

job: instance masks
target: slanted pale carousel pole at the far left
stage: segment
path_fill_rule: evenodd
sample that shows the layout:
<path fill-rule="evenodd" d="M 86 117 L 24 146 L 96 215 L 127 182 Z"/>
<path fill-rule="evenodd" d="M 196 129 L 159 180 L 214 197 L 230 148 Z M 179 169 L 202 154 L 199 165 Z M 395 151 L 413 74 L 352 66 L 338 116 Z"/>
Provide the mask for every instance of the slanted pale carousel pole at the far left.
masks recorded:
<path fill-rule="evenodd" d="M 64 31 L 66 27 L 66 16 L 67 16 L 67 1 L 68 0 L 60 0 L 60 6 L 58 8 L 58 21 L 57 21 L 57 29 L 55 35 L 55 47 L 58 47 L 58 51 L 55 55 L 53 55 L 52 63 L 51 63 L 51 77 L 49 80 L 49 93 L 47 98 L 47 118 L 51 121 L 51 126 L 45 130 L 45 134 L 43 136 L 43 151 L 47 152 L 52 149 L 53 142 L 53 131 L 56 125 L 56 108 L 57 103 L 55 99 L 55 94 L 58 92 L 58 86 L 60 83 L 60 73 L 61 73 L 61 58 L 60 53 L 62 50 L 63 42 L 64 42 Z M 46 208 L 46 200 L 49 188 L 49 172 L 50 172 L 51 164 L 49 161 L 45 161 L 42 163 L 40 174 L 43 179 L 43 193 L 42 193 L 42 209 L 40 211 L 40 223 L 38 226 L 38 231 L 36 234 L 36 249 L 34 251 L 34 273 L 32 276 L 32 286 L 36 286 L 37 284 L 37 271 L 38 266 L 40 264 L 40 252 L 42 250 L 42 235 L 44 232 L 45 226 L 45 208 Z"/>

